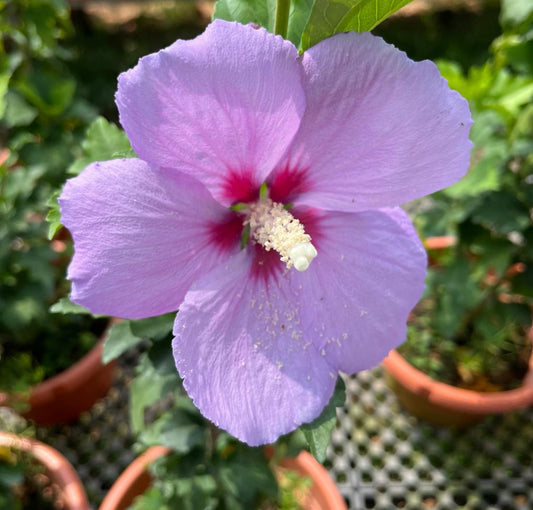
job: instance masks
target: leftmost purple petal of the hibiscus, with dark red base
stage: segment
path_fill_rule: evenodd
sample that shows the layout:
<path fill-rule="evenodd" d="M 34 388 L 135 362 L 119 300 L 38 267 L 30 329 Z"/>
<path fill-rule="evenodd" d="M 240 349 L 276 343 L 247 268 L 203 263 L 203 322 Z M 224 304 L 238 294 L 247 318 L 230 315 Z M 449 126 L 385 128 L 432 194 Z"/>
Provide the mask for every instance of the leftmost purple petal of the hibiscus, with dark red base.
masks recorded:
<path fill-rule="evenodd" d="M 89 165 L 59 203 L 74 238 L 71 299 L 96 314 L 176 310 L 194 280 L 239 249 L 229 213 L 202 184 L 139 159 Z"/>

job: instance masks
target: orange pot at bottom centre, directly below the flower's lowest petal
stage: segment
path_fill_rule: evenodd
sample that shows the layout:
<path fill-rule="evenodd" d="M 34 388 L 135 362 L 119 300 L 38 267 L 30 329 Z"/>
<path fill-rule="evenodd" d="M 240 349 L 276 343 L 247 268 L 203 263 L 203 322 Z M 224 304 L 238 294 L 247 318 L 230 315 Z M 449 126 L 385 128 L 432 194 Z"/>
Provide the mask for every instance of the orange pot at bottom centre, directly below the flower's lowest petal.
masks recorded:
<path fill-rule="evenodd" d="M 126 510 L 152 482 L 147 467 L 168 452 L 167 448 L 153 446 L 137 457 L 113 484 L 99 510 Z M 305 510 L 346 510 L 346 504 L 333 480 L 311 454 L 302 452 L 294 459 L 283 459 L 280 465 L 312 480 L 303 505 Z"/>

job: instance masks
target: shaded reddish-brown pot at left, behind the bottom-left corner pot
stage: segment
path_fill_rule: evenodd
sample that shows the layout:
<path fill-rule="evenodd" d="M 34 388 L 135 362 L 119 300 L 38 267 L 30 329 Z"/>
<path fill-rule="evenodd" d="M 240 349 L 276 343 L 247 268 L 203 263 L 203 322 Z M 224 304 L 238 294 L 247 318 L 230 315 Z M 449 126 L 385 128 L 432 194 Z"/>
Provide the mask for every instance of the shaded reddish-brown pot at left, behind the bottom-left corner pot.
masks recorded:
<path fill-rule="evenodd" d="M 0 393 L 0 404 L 28 402 L 25 418 L 40 425 L 69 423 L 102 398 L 113 382 L 116 362 L 102 362 L 103 338 L 79 361 L 30 390 L 29 400 Z"/>

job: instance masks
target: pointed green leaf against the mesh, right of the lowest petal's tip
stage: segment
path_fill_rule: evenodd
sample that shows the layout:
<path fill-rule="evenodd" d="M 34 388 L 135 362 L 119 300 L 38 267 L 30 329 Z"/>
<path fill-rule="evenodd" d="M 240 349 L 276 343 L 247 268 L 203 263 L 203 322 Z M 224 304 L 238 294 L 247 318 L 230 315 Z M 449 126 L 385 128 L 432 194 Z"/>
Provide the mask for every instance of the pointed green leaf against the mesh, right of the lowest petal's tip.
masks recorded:
<path fill-rule="evenodd" d="M 318 462 L 326 460 L 326 449 L 330 442 L 331 431 L 337 423 L 337 407 L 342 407 L 346 400 L 346 388 L 341 377 L 337 379 L 335 391 L 328 405 L 318 418 L 311 423 L 302 425 L 300 429 L 304 433 L 309 449 Z"/>

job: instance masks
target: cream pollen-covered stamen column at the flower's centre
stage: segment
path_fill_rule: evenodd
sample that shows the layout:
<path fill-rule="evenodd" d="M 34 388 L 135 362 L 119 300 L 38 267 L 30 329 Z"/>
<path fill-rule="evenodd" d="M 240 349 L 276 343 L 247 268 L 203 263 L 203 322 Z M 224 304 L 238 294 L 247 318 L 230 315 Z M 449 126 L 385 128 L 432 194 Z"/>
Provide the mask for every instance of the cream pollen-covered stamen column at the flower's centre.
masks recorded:
<path fill-rule="evenodd" d="M 279 202 L 267 198 L 250 206 L 248 223 L 254 241 L 266 251 L 276 250 L 288 268 L 305 271 L 317 256 L 311 236 Z"/>

